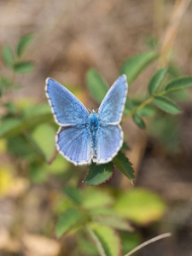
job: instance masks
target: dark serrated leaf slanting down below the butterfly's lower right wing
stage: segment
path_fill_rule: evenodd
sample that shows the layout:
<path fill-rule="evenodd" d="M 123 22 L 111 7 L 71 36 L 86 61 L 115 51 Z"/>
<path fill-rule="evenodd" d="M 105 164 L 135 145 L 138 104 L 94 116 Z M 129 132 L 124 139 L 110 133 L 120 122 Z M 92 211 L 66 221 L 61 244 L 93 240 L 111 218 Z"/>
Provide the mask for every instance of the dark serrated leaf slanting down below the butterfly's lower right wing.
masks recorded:
<path fill-rule="evenodd" d="M 128 177 L 133 184 L 134 170 L 131 162 L 125 157 L 125 154 L 119 151 L 117 156 L 113 158 L 113 164 L 119 169 L 120 172 Z"/>

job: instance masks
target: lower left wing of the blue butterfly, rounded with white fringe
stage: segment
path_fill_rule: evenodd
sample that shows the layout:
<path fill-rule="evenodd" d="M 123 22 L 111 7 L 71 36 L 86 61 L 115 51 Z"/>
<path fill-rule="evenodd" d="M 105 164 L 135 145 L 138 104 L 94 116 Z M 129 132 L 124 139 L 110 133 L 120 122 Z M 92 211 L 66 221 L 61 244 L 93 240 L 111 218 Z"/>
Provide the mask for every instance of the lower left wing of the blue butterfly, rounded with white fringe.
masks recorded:
<path fill-rule="evenodd" d="M 60 127 L 55 142 L 59 153 L 75 166 L 90 164 L 90 133 L 86 125 Z"/>

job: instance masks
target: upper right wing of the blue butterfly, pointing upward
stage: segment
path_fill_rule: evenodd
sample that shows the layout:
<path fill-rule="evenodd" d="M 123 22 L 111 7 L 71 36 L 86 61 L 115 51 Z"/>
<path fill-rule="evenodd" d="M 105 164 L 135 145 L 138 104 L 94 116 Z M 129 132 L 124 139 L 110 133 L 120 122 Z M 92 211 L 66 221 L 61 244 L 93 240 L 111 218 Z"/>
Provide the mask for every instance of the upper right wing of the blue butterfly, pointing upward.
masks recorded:
<path fill-rule="evenodd" d="M 98 114 L 102 123 L 118 125 L 125 107 L 125 100 L 128 91 L 126 76 L 122 75 L 108 90 L 99 108 Z"/>

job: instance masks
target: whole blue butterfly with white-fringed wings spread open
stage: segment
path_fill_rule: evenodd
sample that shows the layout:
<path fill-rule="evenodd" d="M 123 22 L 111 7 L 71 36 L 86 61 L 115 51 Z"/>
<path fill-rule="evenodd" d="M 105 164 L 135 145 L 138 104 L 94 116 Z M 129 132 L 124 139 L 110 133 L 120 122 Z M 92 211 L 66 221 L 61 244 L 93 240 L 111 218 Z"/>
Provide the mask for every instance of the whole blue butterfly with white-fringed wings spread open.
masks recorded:
<path fill-rule="evenodd" d="M 101 106 L 90 114 L 84 105 L 53 79 L 46 79 L 45 91 L 56 124 L 55 136 L 59 153 L 75 166 L 110 162 L 123 144 L 119 125 L 128 90 L 126 76 L 117 79 Z"/>

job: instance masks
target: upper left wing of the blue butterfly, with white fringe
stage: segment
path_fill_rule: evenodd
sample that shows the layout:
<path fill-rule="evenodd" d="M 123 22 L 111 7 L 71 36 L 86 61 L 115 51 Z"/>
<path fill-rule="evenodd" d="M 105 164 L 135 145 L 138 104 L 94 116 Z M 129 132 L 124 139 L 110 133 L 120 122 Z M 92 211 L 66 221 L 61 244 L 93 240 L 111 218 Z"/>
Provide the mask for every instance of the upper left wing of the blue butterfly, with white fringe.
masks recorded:
<path fill-rule="evenodd" d="M 46 79 L 46 96 L 55 122 L 61 126 L 84 124 L 89 113 L 76 96 L 53 79 Z"/>

